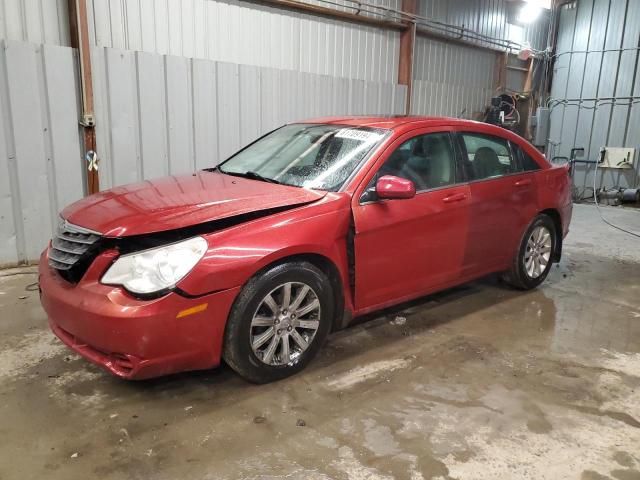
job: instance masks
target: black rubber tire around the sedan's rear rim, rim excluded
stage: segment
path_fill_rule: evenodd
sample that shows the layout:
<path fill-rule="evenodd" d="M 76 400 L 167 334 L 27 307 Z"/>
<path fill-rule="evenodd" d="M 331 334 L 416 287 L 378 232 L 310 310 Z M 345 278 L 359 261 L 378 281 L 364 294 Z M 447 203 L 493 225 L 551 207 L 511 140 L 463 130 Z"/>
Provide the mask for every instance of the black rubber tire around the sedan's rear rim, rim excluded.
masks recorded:
<path fill-rule="evenodd" d="M 531 238 L 532 233 L 538 227 L 543 227 L 550 233 L 551 236 L 551 252 L 550 258 L 547 262 L 542 273 L 536 277 L 529 275 L 525 264 L 525 255 L 527 254 L 527 244 Z M 558 247 L 558 232 L 556 232 L 555 224 L 551 217 L 545 214 L 540 214 L 533 219 L 531 225 L 525 230 L 524 235 L 520 241 L 518 252 L 514 257 L 511 268 L 504 273 L 503 279 L 506 283 L 518 290 L 531 290 L 540 285 L 549 275 L 553 259 L 555 258 L 555 252 Z"/>

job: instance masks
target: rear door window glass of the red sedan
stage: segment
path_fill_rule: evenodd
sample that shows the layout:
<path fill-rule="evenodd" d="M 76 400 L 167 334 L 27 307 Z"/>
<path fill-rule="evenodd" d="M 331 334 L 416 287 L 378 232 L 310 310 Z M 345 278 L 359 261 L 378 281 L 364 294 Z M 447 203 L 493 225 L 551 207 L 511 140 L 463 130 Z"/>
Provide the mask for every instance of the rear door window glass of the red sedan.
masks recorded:
<path fill-rule="evenodd" d="M 509 141 L 492 135 L 462 133 L 467 150 L 464 163 L 469 180 L 500 177 L 517 172 Z"/>

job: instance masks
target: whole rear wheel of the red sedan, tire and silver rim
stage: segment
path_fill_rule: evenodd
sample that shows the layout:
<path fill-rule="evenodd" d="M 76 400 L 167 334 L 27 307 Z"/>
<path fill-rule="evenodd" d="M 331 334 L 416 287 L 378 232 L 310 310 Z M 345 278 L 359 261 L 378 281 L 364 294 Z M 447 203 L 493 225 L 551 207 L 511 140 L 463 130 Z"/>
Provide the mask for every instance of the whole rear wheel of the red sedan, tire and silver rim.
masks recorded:
<path fill-rule="evenodd" d="M 544 282 L 551 270 L 556 242 L 553 220 L 548 215 L 538 215 L 522 237 L 505 281 L 520 290 L 530 290 Z"/>

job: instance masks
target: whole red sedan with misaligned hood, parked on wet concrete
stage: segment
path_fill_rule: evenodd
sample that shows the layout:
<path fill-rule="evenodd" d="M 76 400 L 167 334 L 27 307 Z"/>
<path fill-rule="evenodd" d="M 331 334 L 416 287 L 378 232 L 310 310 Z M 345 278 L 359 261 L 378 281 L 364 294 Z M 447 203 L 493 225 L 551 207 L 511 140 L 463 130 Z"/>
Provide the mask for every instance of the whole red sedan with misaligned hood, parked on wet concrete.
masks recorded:
<path fill-rule="evenodd" d="M 571 209 L 567 168 L 498 127 L 309 120 L 215 168 L 67 207 L 42 304 L 64 343 L 118 376 L 224 359 L 268 382 L 354 316 L 494 272 L 538 286 Z"/>

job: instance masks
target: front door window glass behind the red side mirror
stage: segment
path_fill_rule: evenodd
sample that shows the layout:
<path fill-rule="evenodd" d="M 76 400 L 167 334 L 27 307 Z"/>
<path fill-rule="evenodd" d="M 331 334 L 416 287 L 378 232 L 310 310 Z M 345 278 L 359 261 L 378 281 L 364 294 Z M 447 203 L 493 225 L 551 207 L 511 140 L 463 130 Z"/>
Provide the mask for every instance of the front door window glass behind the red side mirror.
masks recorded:
<path fill-rule="evenodd" d="M 379 175 L 411 180 L 417 191 L 456 182 L 456 161 L 448 133 L 419 135 L 400 145 L 380 168 Z"/>

